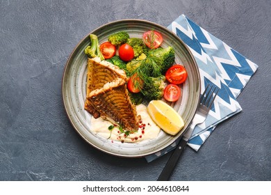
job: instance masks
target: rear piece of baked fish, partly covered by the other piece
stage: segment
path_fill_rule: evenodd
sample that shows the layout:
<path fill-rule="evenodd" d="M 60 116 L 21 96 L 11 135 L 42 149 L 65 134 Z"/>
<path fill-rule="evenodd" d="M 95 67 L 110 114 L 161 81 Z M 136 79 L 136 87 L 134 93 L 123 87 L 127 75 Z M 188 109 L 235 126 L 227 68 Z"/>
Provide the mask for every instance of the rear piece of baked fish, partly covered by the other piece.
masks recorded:
<path fill-rule="evenodd" d="M 102 88 L 104 84 L 113 81 L 117 78 L 122 78 L 126 81 L 126 73 L 116 65 L 108 61 L 101 61 L 99 57 L 88 59 L 87 73 L 87 95 L 97 88 Z M 85 100 L 85 110 L 88 111 L 94 118 L 99 118 L 100 113 L 92 104 Z"/>

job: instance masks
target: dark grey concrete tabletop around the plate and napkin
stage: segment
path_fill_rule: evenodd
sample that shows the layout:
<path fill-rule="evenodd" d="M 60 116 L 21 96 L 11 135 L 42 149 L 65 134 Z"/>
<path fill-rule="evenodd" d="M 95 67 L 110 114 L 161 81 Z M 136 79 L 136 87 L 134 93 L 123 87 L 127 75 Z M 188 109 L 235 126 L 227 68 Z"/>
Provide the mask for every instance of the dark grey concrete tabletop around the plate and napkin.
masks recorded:
<path fill-rule="evenodd" d="M 243 111 L 186 148 L 171 180 L 271 180 L 271 1 L 0 1 L 0 180 L 156 180 L 170 155 L 147 163 L 101 153 L 67 119 L 69 54 L 90 31 L 137 18 L 168 26 L 181 14 L 259 68 Z"/>

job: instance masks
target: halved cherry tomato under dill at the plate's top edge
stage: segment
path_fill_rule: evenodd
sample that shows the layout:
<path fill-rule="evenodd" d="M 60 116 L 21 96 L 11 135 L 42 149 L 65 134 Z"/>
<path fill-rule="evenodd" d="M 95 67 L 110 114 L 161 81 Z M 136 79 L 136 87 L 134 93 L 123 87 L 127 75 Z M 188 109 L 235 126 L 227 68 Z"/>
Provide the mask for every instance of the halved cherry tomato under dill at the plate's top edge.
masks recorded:
<path fill-rule="evenodd" d="M 151 49 L 158 48 L 163 42 L 161 33 L 158 33 L 157 31 L 147 31 L 143 33 L 142 39 L 145 42 L 145 45 Z"/>

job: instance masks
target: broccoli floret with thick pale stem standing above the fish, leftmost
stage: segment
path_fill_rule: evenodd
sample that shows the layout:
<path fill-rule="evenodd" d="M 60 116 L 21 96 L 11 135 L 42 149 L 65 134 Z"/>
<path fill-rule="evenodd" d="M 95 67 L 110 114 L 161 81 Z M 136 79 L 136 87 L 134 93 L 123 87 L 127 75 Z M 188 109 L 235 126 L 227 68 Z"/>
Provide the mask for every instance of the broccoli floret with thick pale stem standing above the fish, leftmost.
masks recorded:
<path fill-rule="evenodd" d="M 99 57 L 101 60 L 104 60 L 104 56 L 100 51 L 98 37 L 94 34 L 90 34 L 90 42 L 91 45 L 85 48 L 85 54 L 90 58 Z"/>

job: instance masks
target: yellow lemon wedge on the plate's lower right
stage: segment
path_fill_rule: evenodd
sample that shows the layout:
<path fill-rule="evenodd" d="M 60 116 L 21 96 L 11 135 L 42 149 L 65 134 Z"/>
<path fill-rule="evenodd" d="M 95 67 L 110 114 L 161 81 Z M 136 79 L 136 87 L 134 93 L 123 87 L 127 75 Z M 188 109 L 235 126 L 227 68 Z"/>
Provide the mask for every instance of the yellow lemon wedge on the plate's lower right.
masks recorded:
<path fill-rule="evenodd" d="M 147 106 L 147 111 L 154 123 L 167 134 L 175 135 L 184 126 L 183 118 L 162 100 L 151 100 Z"/>

